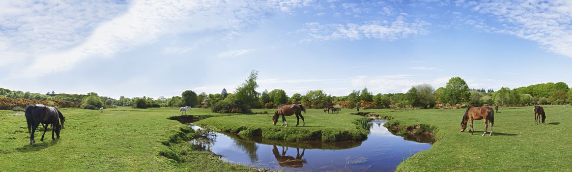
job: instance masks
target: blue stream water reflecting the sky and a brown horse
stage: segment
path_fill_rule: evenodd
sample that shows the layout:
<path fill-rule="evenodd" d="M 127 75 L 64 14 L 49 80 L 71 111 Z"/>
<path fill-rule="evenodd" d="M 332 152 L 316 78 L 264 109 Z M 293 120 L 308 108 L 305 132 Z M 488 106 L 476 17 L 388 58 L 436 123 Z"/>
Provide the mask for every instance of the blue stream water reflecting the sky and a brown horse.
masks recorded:
<path fill-rule="evenodd" d="M 225 162 L 284 171 L 395 171 L 404 159 L 430 149 L 430 143 L 406 141 L 391 134 L 383 127 L 385 122 L 370 122 L 370 133 L 362 142 L 287 143 L 213 132 L 213 137 L 201 144 L 223 155 Z"/>

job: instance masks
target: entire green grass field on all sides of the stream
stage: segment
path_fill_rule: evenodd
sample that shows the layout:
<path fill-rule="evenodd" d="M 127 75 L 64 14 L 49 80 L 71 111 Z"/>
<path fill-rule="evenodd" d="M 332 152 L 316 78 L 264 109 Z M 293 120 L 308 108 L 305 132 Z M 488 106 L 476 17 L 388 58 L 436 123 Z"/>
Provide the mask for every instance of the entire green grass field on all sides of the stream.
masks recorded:
<path fill-rule="evenodd" d="M 572 169 L 569 150 L 572 139 L 570 106 L 545 106 L 546 123 L 534 125 L 532 107 L 501 107 L 495 113 L 494 134 L 481 137 L 484 122 L 475 121 L 475 134 L 461 133 L 465 109 L 458 110 L 363 110 L 393 119 L 388 124 L 428 125 L 438 141 L 430 150 L 408 158 L 398 171 L 567 171 Z M 253 111 L 273 111 L 255 109 Z M 358 115 L 343 109 L 340 114 L 309 110 L 306 127 L 294 127 L 295 117 L 287 117 L 288 128 L 271 126 L 270 114 L 231 115 L 207 118 L 198 124 L 221 130 L 248 125 L 264 130 L 357 130 Z M 193 135 L 177 121 L 178 109 L 98 110 L 63 109 L 66 128 L 62 137 L 47 137 L 30 146 L 23 114 L 0 111 L 0 171 L 256 171 L 250 167 L 224 163 L 209 151 L 198 151 L 179 137 Z M 225 116 L 209 109 L 193 109 L 192 115 Z M 210 121 L 210 122 L 209 122 Z M 206 124 L 209 123 L 209 124 Z M 39 127 L 38 130 L 42 128 Z M 246 129 L 246 130 L 245 130 Z M 250 132 L 243 127 L 241 132 Z M 289 132 L 289 131 L 288 131 Z M 279 132 L 280 133 L 280 132 Z M 51 134 L 51 133 L 50 133 Z M 264 133 L 262 133 L 264 135 Z M 186 136 L 185 136 L 186 135 Z M 46 133 L 47 136 L 47 133 Z M 311 136 L 311 135 L 310 135 Z M 304 137 L 297 135 L 296 137 Z M 276 137 L 289 139 L 288 137 Z M 169 142 L 169 143 L 166 143 Z M 380 143 L 383 144 L 383 143 Z M 168 145 L 168 146 L 166 146 Z M 160 155 L 166 154 L 167 156 Z M 174 154 L 174 155 L 173 155 Z M 176 158 L 166 158 L 173 155 Z M 177 159 L 177 160 L 173 160 Z M 33 164 L 33 165 L 30 165 Z"/>

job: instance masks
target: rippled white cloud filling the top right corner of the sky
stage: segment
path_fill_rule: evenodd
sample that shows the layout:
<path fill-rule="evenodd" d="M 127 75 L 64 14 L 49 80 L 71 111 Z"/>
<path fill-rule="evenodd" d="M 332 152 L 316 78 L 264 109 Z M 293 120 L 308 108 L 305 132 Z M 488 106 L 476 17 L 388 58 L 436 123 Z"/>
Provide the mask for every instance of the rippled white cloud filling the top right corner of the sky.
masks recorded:
<path fill-rule="evenodd" d="M 478 28 L 535 41 L 549 51 L 572 58 L 571 1 L 495 1 L 472 9 L 492 14 L 499 22 L 499 26 L 481 24 Z"/>

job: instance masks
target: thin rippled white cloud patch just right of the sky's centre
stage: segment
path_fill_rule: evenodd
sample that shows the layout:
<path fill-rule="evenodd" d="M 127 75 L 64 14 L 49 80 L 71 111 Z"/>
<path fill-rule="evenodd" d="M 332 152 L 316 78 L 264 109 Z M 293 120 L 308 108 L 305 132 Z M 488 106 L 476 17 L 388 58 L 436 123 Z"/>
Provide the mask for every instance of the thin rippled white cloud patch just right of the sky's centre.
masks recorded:
<path fill-rule="evenodd" d="M 392 41 L 399 38 L 407 38 L 410 35 L 426 34 L 426 26 L 429 23 L 420 19 L 408 22 L 403 16 L 398 16 L 395 21 L 370 21 L 364 23 L 347 23 L 345 25 L 331 23 L 321 24 L 319 22 L 305 23 L 304 28 L 298 30 L 307 33 L 312 39 L 328 41 L 333 39 L 357 40 L 364 38 L 383 39 Z M 310 39 L 304 39 L 308 42 Z"/>

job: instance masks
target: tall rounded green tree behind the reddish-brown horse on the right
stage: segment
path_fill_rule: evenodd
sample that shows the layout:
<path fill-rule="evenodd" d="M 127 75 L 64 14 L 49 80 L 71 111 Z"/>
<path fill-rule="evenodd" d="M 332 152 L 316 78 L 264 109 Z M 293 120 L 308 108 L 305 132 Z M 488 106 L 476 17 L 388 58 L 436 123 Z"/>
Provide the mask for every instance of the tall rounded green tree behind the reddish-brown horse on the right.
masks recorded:
<path fill-rule="evenodd" d="M 462 78 L 453 77 L 445 85 L 440 100 L 450 105 L 466 102 L 470 96 L 468 91 L 467 83 Z"/>

